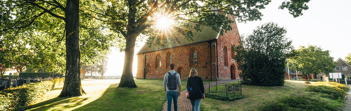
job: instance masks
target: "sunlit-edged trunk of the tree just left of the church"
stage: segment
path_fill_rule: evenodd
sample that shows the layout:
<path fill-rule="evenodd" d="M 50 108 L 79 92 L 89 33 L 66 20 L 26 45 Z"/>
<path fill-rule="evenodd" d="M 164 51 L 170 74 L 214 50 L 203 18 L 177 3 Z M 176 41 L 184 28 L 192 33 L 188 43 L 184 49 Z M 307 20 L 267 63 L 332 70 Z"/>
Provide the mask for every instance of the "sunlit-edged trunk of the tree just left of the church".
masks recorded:
<path fill-rule="evenodd" d="M 118 87 L 135 88 L 137 85 L 133 79 L 133 58 L 136 37 L 126 38 L 126 50 L 124 52 L 124 65 L 121 81 Z"/>

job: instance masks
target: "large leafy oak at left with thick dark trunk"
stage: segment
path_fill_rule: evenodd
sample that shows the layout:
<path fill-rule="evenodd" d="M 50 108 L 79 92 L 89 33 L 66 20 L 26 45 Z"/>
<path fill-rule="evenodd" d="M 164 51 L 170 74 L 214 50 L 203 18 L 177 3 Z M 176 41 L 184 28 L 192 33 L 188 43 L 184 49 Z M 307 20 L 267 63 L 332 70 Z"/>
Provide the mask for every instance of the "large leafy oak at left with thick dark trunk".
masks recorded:
<path fill-rule="evenodd" d="M 38 41 L 41 42 L 31 41 L 26 44 L 31 48 L 44 50 L 38 50 L 37 55 L 47 51 L 52 53 L 47 55 L 64 57 L 66 63 L 62 64 L 66 67 L 66 79 L 59 97 L 81 96 L 85 92 L 80 83 L 80 62 L 83 60 L 85 64 L 94 64 L 96 60 L 105 56 L 104 54 L 110 49 L 110 41 L 115 39 L 114 36 L 101 35 L 102 31 L 106 31 L 105 25 L 97 24 L 92 18 L 94 16 L 92 12 L 98 7 L 103 7 L 103 5 L 97 5 L 103 4 L 102 2 L 99 0 L 0 1 L 0 18 L 4 23 L 0 25 L 0 37 L 8 38 L 8 41 L 11 39 L 26 41 L 28 38 L 39 36 L 45 38 L 46 40 L 42 41 L 39 38 Z M 84 22 L 80 24 L 80 21 Z M 21 39 L 19 35 L 28 35 L 28 38 Z M 84 36 L 80 37 L 80 35 Z M 64 43 L 63 46 L 62 43 Z M 64 51 L 58 51 L 61 49 Z M 60 64 L 61 60 L 60 58 L 51 63 Z"/>

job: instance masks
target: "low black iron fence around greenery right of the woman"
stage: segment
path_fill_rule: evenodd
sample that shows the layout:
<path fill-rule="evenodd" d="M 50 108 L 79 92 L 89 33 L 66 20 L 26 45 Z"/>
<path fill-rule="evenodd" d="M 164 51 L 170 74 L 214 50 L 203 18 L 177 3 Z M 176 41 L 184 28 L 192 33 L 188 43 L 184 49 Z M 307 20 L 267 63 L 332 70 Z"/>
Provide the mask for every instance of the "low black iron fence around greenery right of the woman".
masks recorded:
<path fill-rule="evenodd" d="M 241 96 L 241 84 L 233 83 L 206 83 L 205 95 L 219 100 L 237 100 L 243 98 Z"/>

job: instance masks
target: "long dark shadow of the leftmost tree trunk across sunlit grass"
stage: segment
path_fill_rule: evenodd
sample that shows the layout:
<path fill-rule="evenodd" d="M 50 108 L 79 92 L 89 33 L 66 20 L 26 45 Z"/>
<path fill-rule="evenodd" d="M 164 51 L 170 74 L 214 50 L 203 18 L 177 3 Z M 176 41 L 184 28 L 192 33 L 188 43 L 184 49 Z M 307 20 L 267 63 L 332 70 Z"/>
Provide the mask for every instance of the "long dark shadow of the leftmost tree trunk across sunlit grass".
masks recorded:
<path fill-rule="evenodd" d="M 62 111 L 62 109 L 69 109 L 79 106 L 88 98 L 72 97 L 61 98 L 56 97 L 45 102 L 34 104 L 27 107 L 27 111 Z"/>

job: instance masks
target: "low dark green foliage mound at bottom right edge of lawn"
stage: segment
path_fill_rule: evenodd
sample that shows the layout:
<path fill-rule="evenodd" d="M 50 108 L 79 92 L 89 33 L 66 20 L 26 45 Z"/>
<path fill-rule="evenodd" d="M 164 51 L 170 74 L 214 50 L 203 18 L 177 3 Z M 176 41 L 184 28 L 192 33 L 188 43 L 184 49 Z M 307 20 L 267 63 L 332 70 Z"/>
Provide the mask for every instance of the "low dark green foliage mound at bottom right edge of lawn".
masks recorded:
<path fill-rule="evenodd" d="M 338 107 L 310 96 L 285 96 L 259 107 L 259 111 L 337 111 Z"/>

